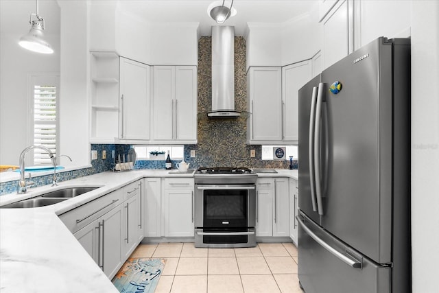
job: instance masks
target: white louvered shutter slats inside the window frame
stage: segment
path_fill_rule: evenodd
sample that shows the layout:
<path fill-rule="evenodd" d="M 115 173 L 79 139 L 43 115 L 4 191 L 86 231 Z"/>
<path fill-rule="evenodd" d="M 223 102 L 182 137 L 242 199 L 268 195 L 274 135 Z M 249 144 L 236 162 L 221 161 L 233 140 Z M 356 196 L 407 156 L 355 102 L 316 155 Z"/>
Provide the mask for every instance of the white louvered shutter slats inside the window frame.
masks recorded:
<path fill-rule="evenodd" d="M 43 145 L 56 155 L 56 86 L 34 86 L 34 145 Z M 35 165 L 51 165 L 43 150 L 34 150 Z"/>

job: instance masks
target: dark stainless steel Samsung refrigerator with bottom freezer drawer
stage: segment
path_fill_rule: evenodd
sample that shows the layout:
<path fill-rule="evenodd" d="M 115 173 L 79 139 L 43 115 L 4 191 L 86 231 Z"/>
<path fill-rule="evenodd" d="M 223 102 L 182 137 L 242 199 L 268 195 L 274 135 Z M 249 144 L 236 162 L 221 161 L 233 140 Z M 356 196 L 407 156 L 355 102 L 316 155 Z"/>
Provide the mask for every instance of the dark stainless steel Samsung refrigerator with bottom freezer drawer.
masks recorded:
<path fill-rule="evenodd" d="M 410 39 L 378 38 L 299 90 L 306 293 L 411 292 Z"/>

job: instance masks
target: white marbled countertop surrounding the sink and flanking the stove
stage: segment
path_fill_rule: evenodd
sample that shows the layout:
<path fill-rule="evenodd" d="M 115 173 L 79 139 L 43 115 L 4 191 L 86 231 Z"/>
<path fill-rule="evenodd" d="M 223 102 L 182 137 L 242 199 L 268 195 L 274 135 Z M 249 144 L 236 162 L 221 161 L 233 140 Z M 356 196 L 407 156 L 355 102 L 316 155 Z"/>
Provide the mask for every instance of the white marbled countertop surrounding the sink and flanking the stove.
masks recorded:
<path fill-rule="evenodd" d="M 297 170 L 276 169 L 261 177 L 298 179 Z M 104 172 L 28 189 L 27 194 L 0 196 L 0 205 L 73 186 L 102 186 L 47 207 L 0 209 L 0 291 L 117 292 L 111 281 L 57 215 L 79 207 L 144 177 L 192 177 L 163 169 Z"/>

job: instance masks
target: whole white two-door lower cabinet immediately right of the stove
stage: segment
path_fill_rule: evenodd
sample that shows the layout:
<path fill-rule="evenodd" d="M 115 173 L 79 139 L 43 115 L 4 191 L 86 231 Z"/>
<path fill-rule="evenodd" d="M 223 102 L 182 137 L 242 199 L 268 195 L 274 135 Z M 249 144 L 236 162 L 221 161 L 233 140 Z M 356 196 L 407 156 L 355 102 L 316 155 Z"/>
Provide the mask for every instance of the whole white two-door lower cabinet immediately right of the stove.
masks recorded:
<path fill-rule="evenodd" d="M 256 182 L 256 235 L 288 237 L 288 178 L 258 178 Z"/>

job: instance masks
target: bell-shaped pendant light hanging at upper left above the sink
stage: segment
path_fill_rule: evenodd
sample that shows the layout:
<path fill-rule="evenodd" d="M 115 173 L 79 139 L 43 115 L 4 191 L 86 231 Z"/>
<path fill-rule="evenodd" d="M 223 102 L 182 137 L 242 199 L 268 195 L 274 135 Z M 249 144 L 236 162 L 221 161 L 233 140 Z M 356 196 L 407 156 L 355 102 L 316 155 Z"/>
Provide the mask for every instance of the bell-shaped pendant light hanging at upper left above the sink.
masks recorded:
<path fill-rule="evenodd" d="M 30 14 L 29 23 L 32 27 L 27 34 L 20 38 L 19 45 L 37 53 L 54 53 L 54 49 L 44 40 L 44 19 L 38 15 L 38 0 L 36 0 L 36 13 Z"/>

